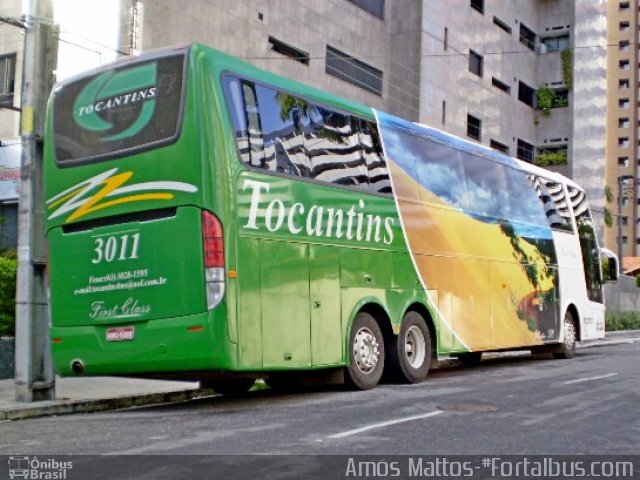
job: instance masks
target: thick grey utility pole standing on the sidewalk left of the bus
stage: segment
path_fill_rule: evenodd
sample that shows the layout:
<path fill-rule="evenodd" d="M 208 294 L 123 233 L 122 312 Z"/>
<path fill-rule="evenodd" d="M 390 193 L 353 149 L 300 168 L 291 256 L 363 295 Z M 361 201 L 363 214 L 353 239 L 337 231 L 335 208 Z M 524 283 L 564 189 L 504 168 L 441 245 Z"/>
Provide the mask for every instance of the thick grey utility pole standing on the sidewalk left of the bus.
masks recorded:
<path fill-rule="evenodd" d="M 53 0 L 29 0 L 23 53 L 16 293 L 16 400 L 55 398 L 46 289 L 42 156 L 47 98 L 57 61 Z"/>

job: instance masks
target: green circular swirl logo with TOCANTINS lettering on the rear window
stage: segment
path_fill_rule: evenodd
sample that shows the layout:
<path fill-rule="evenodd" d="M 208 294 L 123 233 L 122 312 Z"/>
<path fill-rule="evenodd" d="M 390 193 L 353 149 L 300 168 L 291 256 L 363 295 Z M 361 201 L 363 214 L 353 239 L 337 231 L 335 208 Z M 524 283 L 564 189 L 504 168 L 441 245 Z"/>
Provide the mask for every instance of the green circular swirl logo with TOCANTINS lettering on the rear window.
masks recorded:
<path fill-rule="evenodd" d="M 108 134 L 114 128 L 101 112 L 142 104 L 135 121 L 123 131 L 105 136 L 105 141 L 123 140 L 147 126 L 156 108 L 157 65 L 155 62 L 123 72 L 109 71 L 99 75 L 78 95 L 73 105 L 73 117 L 85 130 Z"/>

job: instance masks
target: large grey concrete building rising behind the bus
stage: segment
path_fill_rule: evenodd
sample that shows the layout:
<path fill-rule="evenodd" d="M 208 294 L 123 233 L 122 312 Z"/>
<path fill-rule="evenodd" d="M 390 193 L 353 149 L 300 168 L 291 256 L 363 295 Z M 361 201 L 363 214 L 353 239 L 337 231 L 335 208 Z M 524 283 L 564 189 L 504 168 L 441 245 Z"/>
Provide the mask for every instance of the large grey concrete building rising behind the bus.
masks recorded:
<path fill-rule="evenodd" d="M 112 52 L 202 42 L 526 161 L 554 164 L 587 188 L 603 233 L 604 1 L 104 3 L 118 10 Z"/>

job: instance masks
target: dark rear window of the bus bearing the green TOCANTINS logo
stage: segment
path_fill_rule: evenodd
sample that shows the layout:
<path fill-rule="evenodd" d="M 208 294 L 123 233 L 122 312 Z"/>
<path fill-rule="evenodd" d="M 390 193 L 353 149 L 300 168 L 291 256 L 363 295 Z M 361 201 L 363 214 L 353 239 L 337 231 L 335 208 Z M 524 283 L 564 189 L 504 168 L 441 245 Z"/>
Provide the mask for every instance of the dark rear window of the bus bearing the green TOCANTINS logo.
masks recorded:
<path fill-rule="evenodd" d="M 105 160 L 176 140 L 184 62 L 183 54 L 155 58 L 63 84 L 53 100 L 57 161 Z"/>

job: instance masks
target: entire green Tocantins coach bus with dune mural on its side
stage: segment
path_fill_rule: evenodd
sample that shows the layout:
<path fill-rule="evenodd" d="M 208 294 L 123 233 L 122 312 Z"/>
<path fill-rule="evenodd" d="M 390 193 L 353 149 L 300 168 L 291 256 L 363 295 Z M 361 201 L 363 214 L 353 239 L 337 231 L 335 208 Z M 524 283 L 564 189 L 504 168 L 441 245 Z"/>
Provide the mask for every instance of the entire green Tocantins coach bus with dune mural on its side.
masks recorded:
<path fill-rule="evenodd" d="M 198 44 L 54 88 L 45 198 L 61 375 L 366 389 L 604 335 L 578 185 Z"/>

